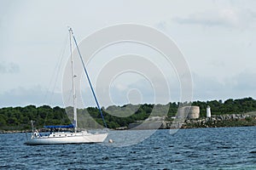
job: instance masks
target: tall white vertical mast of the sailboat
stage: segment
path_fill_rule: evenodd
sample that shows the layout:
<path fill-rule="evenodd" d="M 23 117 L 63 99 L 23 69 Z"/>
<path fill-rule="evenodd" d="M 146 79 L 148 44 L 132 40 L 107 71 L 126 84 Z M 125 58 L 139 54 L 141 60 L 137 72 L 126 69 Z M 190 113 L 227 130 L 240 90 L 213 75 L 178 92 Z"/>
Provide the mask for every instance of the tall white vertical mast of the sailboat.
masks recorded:
<path fill-rule="evenodd" d="M 75 74 L 74 74 L 74 65 L 73 65 L 73 54 L 72 54 L 72 50 L 73 50 L 73 41 L 72 41 L 72 37 L 73 37 L 73 30 L 72 28 L 68 29 L 69 31 L 69 41 L 70 41 L 70 56 L 71 56 L 71 70 L 72 70 L 72 91 L 73 91 L 73 121 L 74 121 L 74 130 L 75 133 L 77 133 L 77 127 L 78 127 L 78 121 L 77 121 L 77 107 L 76 107 L 76 89 L 75 89 L 75 83 L 74 83 L 74 79 L 75 79 Z"/>

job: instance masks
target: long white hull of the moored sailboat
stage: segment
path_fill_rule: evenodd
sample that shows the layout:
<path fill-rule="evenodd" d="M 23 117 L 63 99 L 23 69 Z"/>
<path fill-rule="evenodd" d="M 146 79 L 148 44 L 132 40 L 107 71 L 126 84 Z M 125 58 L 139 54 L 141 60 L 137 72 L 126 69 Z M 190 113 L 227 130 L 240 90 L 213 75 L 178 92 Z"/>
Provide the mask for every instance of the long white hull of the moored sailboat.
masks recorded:
<path fill-rule="evenodd" d="M 86 144 L 102 143 L 108 133 L 51 133 L 47 136 L 32 136 L 25 144 Z"/>

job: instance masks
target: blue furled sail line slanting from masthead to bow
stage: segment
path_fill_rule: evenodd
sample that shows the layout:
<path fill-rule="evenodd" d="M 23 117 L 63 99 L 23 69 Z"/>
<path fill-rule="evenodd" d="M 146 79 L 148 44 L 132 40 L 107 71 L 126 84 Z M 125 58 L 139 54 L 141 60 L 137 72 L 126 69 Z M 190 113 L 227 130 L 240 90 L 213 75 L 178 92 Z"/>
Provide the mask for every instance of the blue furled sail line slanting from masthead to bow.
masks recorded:
<path fill-rule="evenodd" d="M 71 29 L 71 28 L 70 28 L 70 29 Z M 71 32 L 72 32 L 72 35 L 73 35 L 73 30 L 72 30 L 72 29 L 71 29 Z M 92 94 L 93 94 L 93 97 L 94 97 L 94 99 L 95 99 L 95 101 L 96 101 L 96 105 L 97 105 L 97 107 L 98 107 L 98 110 L 99 110 L 100 113 L 101 113 L 102 120 L 103 120 L 103 122 L 104 122 L 104 126 L 105 126 L 106 128 L 108 128 L 108 127 L 107 127 L 107 124 L 106 124 L 106 122 L 105 122 L 104 116 L 103 116 L 103 114 L 102 114 L 102 109 L 101 109 L 101 107 L 100 107 L 100 105 L 99 105 L 99 103 L 98 103 L 98 100 L 96 99 L 96 94 L 95 94 L 95 92 L 94 92 L 94 90 L 93 90 L 93 88 L 92 88 L 92 85 L 91 85 L 91 82 L 90 82 L 90 77 L 89 77 L 88 72 L 87 72 L 87 70 L 86 70 L 86 68 L 85 68 L 84 60 L 83 60 L 83 58 L 82 58 L 82 55 L 81 55 L 81 53 L 80 53 L 77 40 L 76 40 L 76 38 L 74 37 L 74 35 L 73 35 L 73 40 L 74 40 L 75 45 L 76 45 L 76 47 L 77 47 L 77 49 L 78 49 L 79 57 L 80 57 L 80 59 L 81 59 L 81 61 L 82 61 L 82 64 L 83 64 L 83 67 L 84 67 L 85 75 L 86 75 L 87 80 L 88 80 L 88 82 L 89 82 L 89 84 L 90 84 L 90 89 L 91 89 L 91 92 L 92 92 Z"/>

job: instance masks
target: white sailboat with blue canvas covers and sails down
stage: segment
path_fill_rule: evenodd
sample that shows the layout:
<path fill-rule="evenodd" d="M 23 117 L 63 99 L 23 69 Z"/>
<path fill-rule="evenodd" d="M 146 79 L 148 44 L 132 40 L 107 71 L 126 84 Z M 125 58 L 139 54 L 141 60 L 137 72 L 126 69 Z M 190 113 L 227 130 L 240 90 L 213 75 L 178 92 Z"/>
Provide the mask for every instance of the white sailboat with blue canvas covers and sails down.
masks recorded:
<path fill-rule="evenodd" d="M 30 144 L 30 145 L 35 145 L 35 144 L 86 144 L 86 143 L 102 143 L 107 137 L 108 133 L 89 133 L 86 130 L 84 131 L 78 131 L 78 120 L 77 120 L 77 108 L 76 108 L 76 97 L 75 97 L 75 85 L 74 85 L 74 71 L 73 71 L 73 41 L 76 45 L 76 48 L 79 52 L 79 46 L 76 41 L 76 38 L 73 35 L 73 30 L 72 28 L 68 29 L 69 31 L 69 39 L 70 39 L 70 51 L 71 51 L 71 62 L 72 62 L 72 76 L 73 76 L 73 81 L 72 81 L 72 86 L 73 86 L 73 124 L 70 125 L 57 125 L 57 126 L 44 126 L 45 128 L 49 129 L 67 129 L 67 128 L 73 128 L 73 132 L 67 132 L 67 131 L 62 131 L 62 132 L 49 132 L 47 134 L 41 134 L 38 132 L 36 128 L 34 128 L 33 121 L 32 123 L 32 135 L 30 138 L 28 138 L 25 142 L 25 144 Z M 72 41 L 73 39 L 73 41 Z M 100 111 L 102 115 L 102 110 L 101 107 L 96 99 L 96 94 L 94 92 L 94 89 L 92 88 L 91 82 L 90 82 L 90 77 L 88 76 L 88 72 L 86 71 L 85 65 L 83 58 L 79 52 L 79 57 L 82 61 L 83 67 L 84 67 L 84 72 L 87 77 L 87 80 L 90 84 L 90 89 L 91 92 L 94 96 L 94 99 L 96 100 L 96 105 L 98 110 Z M 104 122 L 104 125 L 107 128 L 106 122 L 104 120 L 104 117 L 102 115 L 102 119 Z"/>

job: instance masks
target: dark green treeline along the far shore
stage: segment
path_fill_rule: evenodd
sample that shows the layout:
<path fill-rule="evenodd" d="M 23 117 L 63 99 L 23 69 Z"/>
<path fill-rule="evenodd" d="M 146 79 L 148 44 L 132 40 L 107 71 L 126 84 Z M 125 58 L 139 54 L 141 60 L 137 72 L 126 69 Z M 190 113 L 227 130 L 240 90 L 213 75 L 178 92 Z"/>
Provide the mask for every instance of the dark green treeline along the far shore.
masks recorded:
<path fill-rule="evenodd" d="M 129 123 L 146 119 L 149 115 L 168 116 L 171 118 L 177 113 L 179 103 L 169 103 L 168 105 L 123 105 L 109 106 L 102 108 L 102 113 L 109 128 L 127 127 Z M 227 99 L 212 101 L 194 101 L 192 105 L 198 105 L 201 109 L 201 117 L 206 116 L 207 105 L 211 106 L 212 115 L 240 114 L 249 111 L 256 111 L 256 100 L 253 98 Z M 44 125 L 67 125 L 70 124 L 67 115 L 73 115 L 71 107 L 66 110 L 49 105 L 36 107 L 27 105 L 25 107 L 5 107 L 0 109 L 0 129 L 2 130 L 26 130 L 31 128 L 30 121 L 35 121 L 36 127 Z M 69 112 L 66 114 L 66 112 Z M 102 116 L 96 107 L 78 109 L 79 119 L 90 119 L 103 125 Z M 79 120 L 80 121 L 80 120 Z M 81 120 L 80 124 L 91 124 Z M 92 123 L 93 124 L 93 123 Z M 89 127 L 93 127 L 90 125 Z"/>

